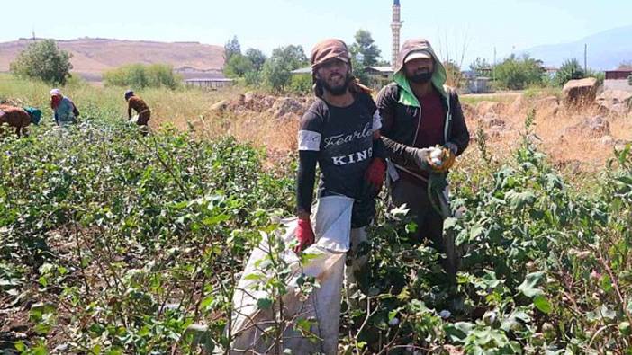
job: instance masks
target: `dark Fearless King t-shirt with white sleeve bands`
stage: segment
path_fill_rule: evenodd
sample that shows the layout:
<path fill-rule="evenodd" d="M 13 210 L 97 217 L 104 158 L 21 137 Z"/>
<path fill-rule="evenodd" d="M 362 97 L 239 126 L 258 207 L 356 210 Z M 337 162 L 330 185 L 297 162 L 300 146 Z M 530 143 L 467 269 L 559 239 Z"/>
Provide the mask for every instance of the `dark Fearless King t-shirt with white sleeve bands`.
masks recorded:
<path fill-rule="evenodd" d="M 375 102 L 366 93 L 357 94 L 348 107 L 331 106 L 321 99 L 311 105 L 302 116 L 298 146 L 299 151 L 317 152 L 319 196 L 358 198 L 374 155 L 373 132 L 380 126 Z"/>

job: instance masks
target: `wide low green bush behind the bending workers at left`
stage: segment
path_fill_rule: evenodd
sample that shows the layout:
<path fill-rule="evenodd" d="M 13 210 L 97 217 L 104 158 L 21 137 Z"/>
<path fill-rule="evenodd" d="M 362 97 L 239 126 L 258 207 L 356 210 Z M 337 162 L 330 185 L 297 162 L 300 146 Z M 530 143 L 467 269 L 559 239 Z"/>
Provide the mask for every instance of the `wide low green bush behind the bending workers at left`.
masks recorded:
<path fill-rule="evenodd" d="M 167 64 L 130 64 L 104 73 L 105 86 L 126 86 L 136 89 L 167 87 L 176 89 L 182 78 Z"/>

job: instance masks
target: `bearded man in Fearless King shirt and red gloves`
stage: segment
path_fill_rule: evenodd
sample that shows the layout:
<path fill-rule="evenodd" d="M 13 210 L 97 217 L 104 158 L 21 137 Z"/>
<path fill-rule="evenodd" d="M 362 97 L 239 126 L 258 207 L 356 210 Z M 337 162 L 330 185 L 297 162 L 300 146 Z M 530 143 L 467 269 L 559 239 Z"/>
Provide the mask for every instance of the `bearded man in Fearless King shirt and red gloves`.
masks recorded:
<path fill-rule="evenodd" d="M 347 270 L 348 283 L 352 283 L 367 260 L 367 255 L 358 253 L 366 241 L 365 226 L 374 217 L 375 196 L 384 181 L 386 165 L 380 156 L 381 152 L 384 155 L 384 148 L 378 130 L 381 122 L 370 90 L 351 75 L 351 60 L 343 41 L 323 40 L 316 44 L 311 51 L 311 71 L 317 99 L 303 115 L 298 132 L 299 221 L 294 251 L 301 252 L 315 242 L 311 202 L 318 164 L 318 199 L 353 199 L 349 259 L 354 263 Z M 317 221 L 318 213 L 319 210 Z M 316 224 L 315 228 L 319 230 Z"/>

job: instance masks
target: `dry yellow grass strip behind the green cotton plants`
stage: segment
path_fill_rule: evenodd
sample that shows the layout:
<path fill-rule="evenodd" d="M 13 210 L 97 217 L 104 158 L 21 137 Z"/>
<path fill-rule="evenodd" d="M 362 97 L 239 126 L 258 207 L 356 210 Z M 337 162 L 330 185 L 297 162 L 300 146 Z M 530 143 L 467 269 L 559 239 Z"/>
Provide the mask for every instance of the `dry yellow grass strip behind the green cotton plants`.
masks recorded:
<path fill-rule="evenodd" d="M 44 84 L 24 82 L 10 75 L 0 75 L 0 99 L 11 98 L 24 105 L 43 108 L 42 120 L 50 120 L 48 108 L 50 87 Z M 69 85 L 63 89 L 75 102 L 79 110 L 96 107 L 99 110 L 113 112 L 113 118 L 126 116 L 126 103 L 122 98 L 124 89 L 104 88 L 85 84 Z M 239 106 L 239 96 L 246 89 L 233 87 L 217 92 L 200 90 L 170 91 L 167 89 L 148 89 L 140 91 L 140 96 L 149 104 L 152 111 L 150 126 L 158 129 L 170 124 L 176 129 L 194 129 L 201 138 L 217 138 L 231 135 L 240 141 L 266 148 L 269 155 L 282 159 L 296 150 L 296 131 L 298 120 L 278 118 L 270 111 L 249 111 Z M 501 95 L 465 96 L 465 118 L 468 127 L 474 132 L 484 112 L 477 107 L 489 102 L 498 102 L 494 114 L 504 121 L 503 129 L 490 129 L 483 125 L 488 135 L 488 146 L 492 155 L 504 159 L 519 144 L 520 134 L 524 131 L 524 120 L 531 109 L 537 111 L 535 132 L 540 139 L 541 149 L 549 155 L 554 164 L 568 168 L 569 172 L 594 173 L 599 171 L 612 157 L 613 146 L 604 146 L 600 137 L 588 137 L 581 132 L 565 132 L 586 118 L 600 114 L 593 107 L 564 109 L 560 105 L 555 109 L 555 98 L 559 91 L 529 90 L 522 95 L 511 93 Z M 521 96 L 521 98 L 520 98 Z M 227 110 L 212 110 L 213 104 L 226 100 Z M 274 101 L 274 98 L 272 98 Z M 302 112 L 295 112 L 301 116 Z M 602 115 L 609 121 L 609 135 L 619 142 L 632 141 L 632 114 L 627 117 Z M 470 150 L 475 149 L 473 143 Z"/>

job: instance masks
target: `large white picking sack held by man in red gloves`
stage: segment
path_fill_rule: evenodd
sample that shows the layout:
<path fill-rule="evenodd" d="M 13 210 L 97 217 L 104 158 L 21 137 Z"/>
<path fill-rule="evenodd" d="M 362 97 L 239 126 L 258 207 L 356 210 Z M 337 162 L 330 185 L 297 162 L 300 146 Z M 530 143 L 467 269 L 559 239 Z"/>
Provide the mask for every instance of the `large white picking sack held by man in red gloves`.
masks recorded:
<path fill-rule="evenodd" d="M 346 196 L 327 196 L 318 201 L 312 227 L 316 235 L 316 243 L 303 253 L 318 255 L 310 262 L 299 265 L 299 259 L 292 250 L 285 250 L 281 257 L 291 267 L 286 283 L 288 292 L 283 297 L 284 319 L 290 324 L 284 328 L 281 351 L 291 350 L 293 354 L 309 354 L 314 352 L 336 354 L 338 349 L 338 333 L 340 318 L 340 297 L 344 279 L 346 255 L 349 249 L 351 230 L 351 209 L 353 199 Z M 297 219 L 284 220 L 287 227 L 281 237 L 285 244 L 296 238 Z M 255 354 L 281 352 L 270 339 L 265 339 L 264 331 L 273 325 L 272 309 L 259 309 L 257 300 L 266 298 L 266 291 L 257 290 L 255 286 L 262 280 L 248 280 L 248 275 L 263 272 L 261 261 L 269 251 L 267 240 L 252 251 L 248 264 L 232 298 L 233 312 L 231 319 L 230 346 L 231 354 Z M 299 277 L 305 274 L 318 280 L 320 287 L 311 295 L 302 299 L 297 285 Z M 278 311 L 278 308 L 276 309 Z M 294 330 L 299 319 L 315 320 L 311 333 L 320 341 L 314 342 Z"/>

